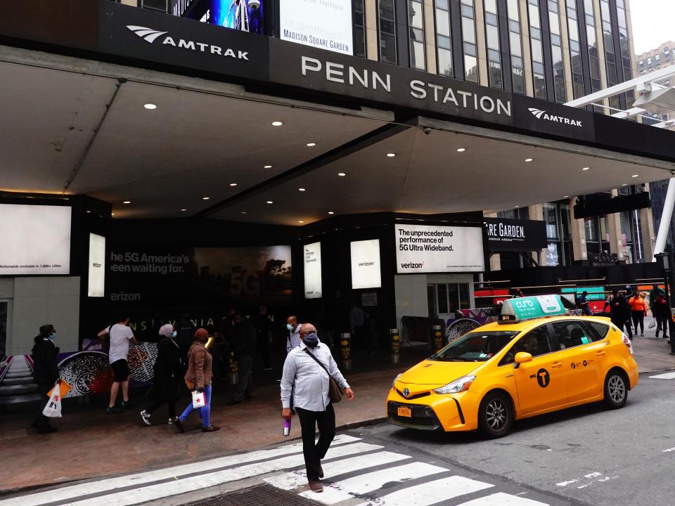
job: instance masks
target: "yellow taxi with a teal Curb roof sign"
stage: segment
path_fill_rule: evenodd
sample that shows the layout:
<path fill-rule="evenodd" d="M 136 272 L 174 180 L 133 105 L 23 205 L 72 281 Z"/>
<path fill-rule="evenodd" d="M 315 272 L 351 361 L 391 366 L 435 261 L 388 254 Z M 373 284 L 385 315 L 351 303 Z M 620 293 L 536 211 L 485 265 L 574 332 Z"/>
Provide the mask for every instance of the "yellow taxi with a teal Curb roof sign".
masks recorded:
<path fill-rule="evenodd" d="M 558 295 L 508 299 L 498 322 L 398 375 L 387 420 L 497 438 L 521 418 L 596 401 L 622 408 L 637 383 L 631 341 L 609 318 L 570 316 Z"/>

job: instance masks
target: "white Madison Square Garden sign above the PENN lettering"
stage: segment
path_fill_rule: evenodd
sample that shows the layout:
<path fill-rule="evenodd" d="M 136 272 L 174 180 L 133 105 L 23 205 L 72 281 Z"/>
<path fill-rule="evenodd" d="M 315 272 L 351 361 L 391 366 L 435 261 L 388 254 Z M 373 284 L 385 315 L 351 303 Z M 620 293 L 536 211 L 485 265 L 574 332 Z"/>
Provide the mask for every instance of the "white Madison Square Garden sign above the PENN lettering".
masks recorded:
<path fill-rule="evenodd" d="M 281 39 L 353 55 L 352 0 L 283 0 Z"/>

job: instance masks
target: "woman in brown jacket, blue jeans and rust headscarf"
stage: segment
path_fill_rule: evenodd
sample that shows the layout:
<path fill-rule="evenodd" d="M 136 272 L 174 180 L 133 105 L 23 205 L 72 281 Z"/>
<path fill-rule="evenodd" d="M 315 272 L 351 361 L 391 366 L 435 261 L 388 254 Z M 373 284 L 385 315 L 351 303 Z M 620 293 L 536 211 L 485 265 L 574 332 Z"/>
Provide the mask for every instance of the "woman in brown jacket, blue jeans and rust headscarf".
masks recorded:
<path fill-rule="evenodd" d="M 188 350 L 188 372 L 185 375 L 185 382 L 189 389 L 204 392 L 205 406 L 198 408 L 202 417 L 202 432 L 215 432 L 220 427 L 211 424 L 211 379 L 213 377 L 211 368 L 213 357 L 205 346 L 208 339 L 209 334 L 205 329 L 197 329 L 195 341 Z M 185 408 L 183 414 L 178 417 L 178 420 L 174 422 L 179 432 L 185 432 L 183 423 L 194 409 L 191 402 Z"/>

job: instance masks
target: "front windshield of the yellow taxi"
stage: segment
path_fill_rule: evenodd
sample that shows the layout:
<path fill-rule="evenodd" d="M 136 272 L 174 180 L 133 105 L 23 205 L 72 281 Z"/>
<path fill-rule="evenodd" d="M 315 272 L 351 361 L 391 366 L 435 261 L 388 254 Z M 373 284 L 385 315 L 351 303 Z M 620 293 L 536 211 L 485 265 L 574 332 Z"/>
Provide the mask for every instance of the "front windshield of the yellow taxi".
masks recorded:
<path fill-rule="evenodd" d="M 485 362 L 489 361 L 518 332 L 469 332 L 445 348 L 437 351 L 428 360 L 442 362 Z"/>

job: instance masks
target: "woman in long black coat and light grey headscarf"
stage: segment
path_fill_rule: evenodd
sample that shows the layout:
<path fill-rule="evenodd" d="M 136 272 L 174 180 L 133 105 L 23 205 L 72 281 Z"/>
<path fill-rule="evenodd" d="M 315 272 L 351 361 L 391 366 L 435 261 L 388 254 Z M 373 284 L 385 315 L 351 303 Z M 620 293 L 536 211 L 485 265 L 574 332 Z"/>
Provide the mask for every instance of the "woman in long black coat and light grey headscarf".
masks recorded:
<path fill-rule="evenodd" d="M 157 361 L 154 367 L 153 403 L 141 411 L 141 420 L 152 425 L 150 415 L 153 411 L 167 403 L 169 424 L 176 420 L 176 400 L 185 366 L 181 358 L 181 349 L 174 341 L 176 332 L 170 323 L 160 328 L 160 342 L 157 345 Z"/>

